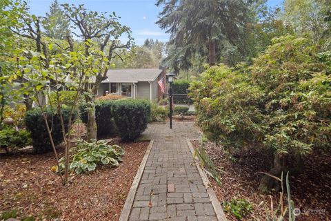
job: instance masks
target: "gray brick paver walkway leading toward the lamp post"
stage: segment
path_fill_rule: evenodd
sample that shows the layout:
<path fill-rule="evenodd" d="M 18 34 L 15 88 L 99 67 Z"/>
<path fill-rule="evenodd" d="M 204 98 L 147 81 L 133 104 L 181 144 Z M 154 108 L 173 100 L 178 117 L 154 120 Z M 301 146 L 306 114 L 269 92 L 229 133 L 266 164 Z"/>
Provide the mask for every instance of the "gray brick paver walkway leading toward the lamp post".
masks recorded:
<path fill-rule="evenodd" d="M 192 122 L 150 124 L 154 144 L 129 220 L 217 220 L 187 138 L 200 138 Z"/>

